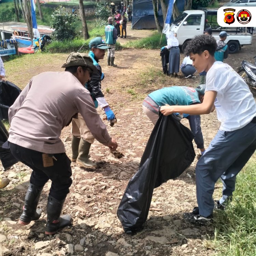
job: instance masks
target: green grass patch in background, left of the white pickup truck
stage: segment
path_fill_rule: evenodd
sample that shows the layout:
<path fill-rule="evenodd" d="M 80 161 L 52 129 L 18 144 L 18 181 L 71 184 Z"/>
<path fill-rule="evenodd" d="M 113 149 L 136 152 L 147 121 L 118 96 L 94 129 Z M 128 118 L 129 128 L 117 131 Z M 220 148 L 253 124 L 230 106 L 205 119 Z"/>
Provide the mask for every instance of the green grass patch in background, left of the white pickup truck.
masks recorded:
<path fill-rule="evenodd" d="M 154 32 L 152 36 L 134 40 L 126 43 L 124 48 L 136 48 L 136 49 L 160 49 L 167 44 L 165 34 L 162 35 L 159 32 Z"/>

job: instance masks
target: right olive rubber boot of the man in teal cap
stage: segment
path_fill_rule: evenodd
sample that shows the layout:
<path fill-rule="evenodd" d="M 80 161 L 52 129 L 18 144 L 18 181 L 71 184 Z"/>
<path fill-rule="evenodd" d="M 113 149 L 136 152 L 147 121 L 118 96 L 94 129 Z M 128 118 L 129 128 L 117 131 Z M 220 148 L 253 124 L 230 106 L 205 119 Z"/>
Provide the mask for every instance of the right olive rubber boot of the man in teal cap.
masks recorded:
<path fill-rule="evenodd" d="M 79 154 L 76 159 L 76 162 L 84 168 L 93 168 L 97 166 L 96 163 L 89 160 L 90 147 L 91 147 L 91 143 L 81 138 L 79 143 Z"/>

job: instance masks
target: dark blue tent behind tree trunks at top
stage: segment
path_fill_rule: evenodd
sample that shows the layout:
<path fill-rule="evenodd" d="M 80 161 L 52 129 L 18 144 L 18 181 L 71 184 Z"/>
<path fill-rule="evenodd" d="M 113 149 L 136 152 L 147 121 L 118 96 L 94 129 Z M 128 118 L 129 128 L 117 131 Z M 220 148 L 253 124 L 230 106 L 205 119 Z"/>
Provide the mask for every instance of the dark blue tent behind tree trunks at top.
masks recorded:
<path fill-rule="evenodd" d="M 180 12 L 184 11 L 185 2 L 186 0 L 177 1 L 177 7 Z M 158 18 L 161 26 L 163 26 L 164 19 L 163 19 L 160 1 L 158 4 Z M 133 0 L 132 29 L 145 29 L 145 28 L 156 28 L 152 0 Z"/>

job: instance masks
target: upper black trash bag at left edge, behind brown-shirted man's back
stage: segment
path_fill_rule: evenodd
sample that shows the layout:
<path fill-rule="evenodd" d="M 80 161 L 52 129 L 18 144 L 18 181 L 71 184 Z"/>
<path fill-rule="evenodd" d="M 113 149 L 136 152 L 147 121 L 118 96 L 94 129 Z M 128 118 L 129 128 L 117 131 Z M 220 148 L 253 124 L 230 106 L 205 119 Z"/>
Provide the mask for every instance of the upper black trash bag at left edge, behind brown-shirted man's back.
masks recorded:
<path fill-rule="evenodd" d="M 0 120 L 8 119 L 8 110 L 20 92 L 15 84 L 9 81 L 0 82 Z"/>

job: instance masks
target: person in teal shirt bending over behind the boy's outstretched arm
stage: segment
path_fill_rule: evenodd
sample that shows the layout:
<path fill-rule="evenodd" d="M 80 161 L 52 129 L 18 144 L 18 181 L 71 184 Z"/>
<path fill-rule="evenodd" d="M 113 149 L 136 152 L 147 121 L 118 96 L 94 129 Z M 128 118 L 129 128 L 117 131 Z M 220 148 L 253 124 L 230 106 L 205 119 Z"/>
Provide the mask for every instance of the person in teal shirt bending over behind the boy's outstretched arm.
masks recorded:
<path fill-rule="evenodd" d="M 151 120 L 156 124 L 159 116 L 160 106 L 164 105 L 191 105 L 198 104 L 203 101 L 205 85 L 201 84 L 196 89 L 187 86 L 170 86 L 150 93 L 142 103 L 142 109 Z M 200 115 L 188 115 L 185 113 L 176 113 L 178 117 L 187 118 L 192 133 L 195 136 L 195 143 L 203 155 L 204 141 L 201 130 Z"/>

